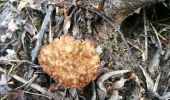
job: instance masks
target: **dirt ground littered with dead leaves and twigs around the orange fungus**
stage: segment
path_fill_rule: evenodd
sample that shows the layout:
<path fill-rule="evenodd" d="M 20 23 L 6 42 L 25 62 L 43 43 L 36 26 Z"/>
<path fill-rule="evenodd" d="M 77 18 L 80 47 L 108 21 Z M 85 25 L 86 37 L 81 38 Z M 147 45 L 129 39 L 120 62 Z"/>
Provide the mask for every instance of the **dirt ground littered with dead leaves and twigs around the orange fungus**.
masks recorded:
<path fill-rule="evenodd" d="M 100 67 L 83 88 L 59 83 L 38 62 L 41 47 L 63 34 L 96 44 Z M 170 2 L 117 25 L 89 3 L 0 1 L 0 76 L 1 100 L 169 100 Z"/>

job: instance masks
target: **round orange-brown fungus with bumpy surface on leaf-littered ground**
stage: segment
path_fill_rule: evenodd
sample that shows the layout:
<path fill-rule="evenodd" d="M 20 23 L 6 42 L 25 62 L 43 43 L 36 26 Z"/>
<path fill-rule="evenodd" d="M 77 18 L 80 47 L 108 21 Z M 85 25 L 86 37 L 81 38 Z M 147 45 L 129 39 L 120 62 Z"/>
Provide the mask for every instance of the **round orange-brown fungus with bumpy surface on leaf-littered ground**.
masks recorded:
<path fill-rule="evenodd" d="M 41 48 L 38 61 L 54 80 L 69 88 L 83 88 L 95 78 L 100 57 L 92 41 L 62 35 Z"/>

